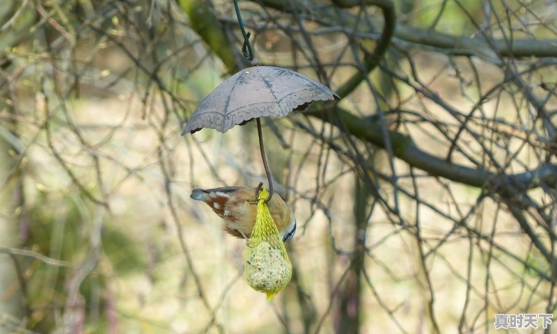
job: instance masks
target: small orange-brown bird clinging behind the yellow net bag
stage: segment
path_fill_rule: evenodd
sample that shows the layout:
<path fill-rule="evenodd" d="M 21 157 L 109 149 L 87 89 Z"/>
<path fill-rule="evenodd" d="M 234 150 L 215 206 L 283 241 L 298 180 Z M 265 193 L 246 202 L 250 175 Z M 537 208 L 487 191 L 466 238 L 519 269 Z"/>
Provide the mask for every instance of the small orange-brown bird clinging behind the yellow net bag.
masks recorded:
<path fill-rule="evenodd" d="M 222 229 L 234 237 L 249 239 L 256 223 L 256 189 L 245 186 L 224 186 L 215 189 L 194 189 L 191 198 L 203 200 L 215 214 L 223 218 Z M 267 203 L 283 241 L 296 233 L 296 218 L 284 200 L 276 193 Z"/>

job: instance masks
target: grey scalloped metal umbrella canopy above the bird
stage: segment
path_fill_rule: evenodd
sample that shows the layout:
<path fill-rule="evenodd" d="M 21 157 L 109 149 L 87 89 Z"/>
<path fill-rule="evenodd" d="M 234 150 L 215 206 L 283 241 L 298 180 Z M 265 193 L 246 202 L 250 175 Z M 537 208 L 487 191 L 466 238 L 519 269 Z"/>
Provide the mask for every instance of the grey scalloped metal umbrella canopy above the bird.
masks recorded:
<path fill-rule="evenodd" d="M 183 134 L 210 127 L 226 132 L 252 118 L 284 117 L 313 101 L 338 100 L 327 86 L 297 72 L 253 66 L 215 88 L 191 114 Z"/>

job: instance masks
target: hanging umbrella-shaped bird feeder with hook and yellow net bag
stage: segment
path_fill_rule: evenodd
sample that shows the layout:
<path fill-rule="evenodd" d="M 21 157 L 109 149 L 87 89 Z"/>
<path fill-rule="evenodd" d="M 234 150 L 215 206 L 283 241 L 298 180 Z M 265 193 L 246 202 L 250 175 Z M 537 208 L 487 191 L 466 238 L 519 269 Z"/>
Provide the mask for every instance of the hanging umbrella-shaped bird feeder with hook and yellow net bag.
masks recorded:
<path fill-rule="evenodd" d="M 262 192 L 265 195 L 265 198 L 260 197 L 259 191 L 261 189 L 261 184 L 256 190 L 256 198 L 259 198 L 259 221 L 262 219 L 262 216 L 264 216 L 259 214 L 259 206 L 262 205 L 261 202 L 264 202 L 264 207 L 267 209 L 267 202 L 269 202 L 273 196 L 273 183 L 267 159 L 265 158 L 265 148 L 263 145 L 260 118 L 285 117 L 294 110 L 305 109 L 309 104 L 311 104 L 311 102 L 340 100 L 340 97 L 338 97 L 338 95 L 336 95 L 327 86 L 324 86 L 323 84 L 320 84 L 319 82 L 302 74 L 280 67 L 260 66 L 257 61 L 254 61 L 253 49 L 251 48 L 251 44 L 249 42 L 250 34 L 246 33 L 244 29 L 237 0 L 233 1 L 238 24 L 240 25 L 242 35 L 244 36 L 242 53 L 248 61 L 252 62 L 254 66 L 237 72 L 226 81 L 223 81 L 222 84 L 217 86 L 217 88 L 207 95 L 194 113 L 192 113 L 189 117 L 189 120 L 182 131 L 182 136 L 184 134 L 194 134 L 194 132 L 197 132 L 204 127 L 210 127 L 218 132 L 224 133 L 229 129 L 232 129 L 235 125 L 244 125 L 246 122 L 253 120 L 253 118 L 256 119 L 261 158 L 263 166 L 265 167 L 265 173 L 267 174 L 267 181 L 269 182 L 268 196 L 266 190 Z M 272 225 L 274 230 L 276 230 L 276 225 L 274 225 L 272 217 L 270 215 L 268 216 L 271 219 L 271 223 L 260 225 L 267 227 Z M 265 230 L 265 228 L 262 230 Z M 278 236 L 278 232 L 265 232 L 263 234 L 265 235 L 260 236 L 259 239 L 265 242 L 271 240 L 272 238 L 270 237 L 274 234 Z M 254 239 L 253 241 L 256 242 L 256 244 L 251 243 L 249 246 L 257 250 L 261 242 L 259 239 Z M 278 240 L 280 241 L 280 239 Z M 269 247 L 269 250 L 276 250 L 278 253 L 283 253 L 285 255 L 285 260 L 288 260 L 288 255 L 286 255 L 282 241 L 280 241 L 279 244 L 281 244 L 282 248 L 272 246 Z M 253 251 L 251 253 L 249 251 L 246 252 L 246 274 L 251 273 L 250 269 L 256 267 L 253 263 L 257 261 L 253 259 L 259 255 L 265 255 L 266 260 L 269 260 L 271 257 L 267 256 L 267 253 L 269 253 L 267 250 L 260 251 L 259 253 L 253 253 Z M 250 260 L 249 256 L 253 257 L 253 259 Z M 283 287 L 288 284 L 288 281 L 290 281 L 290 274 L 292 273 L 290 260 L 288 260 L 288 266 L 290 266 L 290 271 L 284 271 L 285 273 L 289 273 L 288 275 L 284 275 L 284 282 L 283 280 L 278 280 L 278 283 L 275 282 L 276 284 L 272 287 L 260 284 L 258 276 L 247 275 L 246 277 L 249 276 L 248 282 L 254 289 L 267 293 L 267 298 L 270 300 L 276 292 L 283 289 Z M 280 267 L 278 269 L 288 269 L 285 266 L 278 267 Z M 267 276 L 263 278 L 267 280 Z M 288 280 L 286 280 L 286 278 L 288 278 Z"/>

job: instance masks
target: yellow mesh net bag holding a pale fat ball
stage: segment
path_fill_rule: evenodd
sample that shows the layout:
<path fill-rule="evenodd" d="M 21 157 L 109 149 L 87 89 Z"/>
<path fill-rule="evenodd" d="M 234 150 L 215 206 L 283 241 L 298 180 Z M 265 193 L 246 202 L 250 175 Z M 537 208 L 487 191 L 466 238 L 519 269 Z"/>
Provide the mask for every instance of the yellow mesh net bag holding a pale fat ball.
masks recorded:
<path fill-rule="evenodd" d="M 244 255 L 244 276 L 250 287 L 267 294 L 267 301 L 271 301 L 290 283 L 292 264 L 265 202 L 267 198 L 269 193 L 263 186 L 257 202 L 256 225 Z"/>

